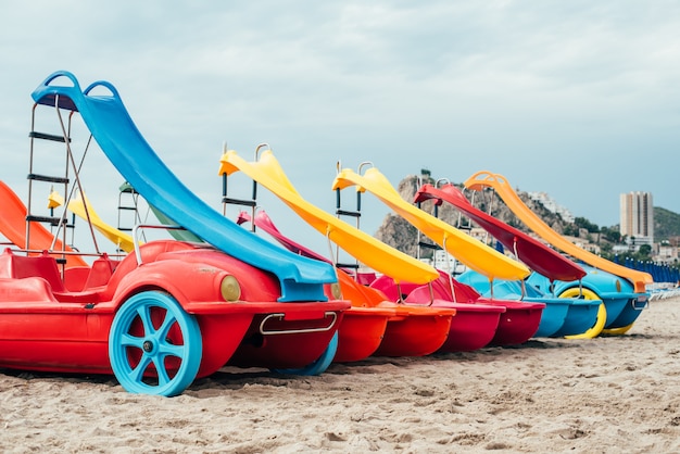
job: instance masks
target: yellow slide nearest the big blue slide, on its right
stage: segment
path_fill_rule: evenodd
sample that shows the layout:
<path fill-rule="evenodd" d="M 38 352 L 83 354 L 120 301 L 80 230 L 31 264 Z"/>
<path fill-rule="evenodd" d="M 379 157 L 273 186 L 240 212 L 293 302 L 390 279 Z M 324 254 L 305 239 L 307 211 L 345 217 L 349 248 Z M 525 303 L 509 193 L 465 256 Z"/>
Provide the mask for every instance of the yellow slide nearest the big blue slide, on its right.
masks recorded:
<path fill-rule="evenodd" d="M 428 283 L 439 278 L 433 267 L 406 255 L 307 202 L 292 186 L 272 150 L 247 162 L 236 151 L 219 160 L 219 175 L 243 172 L 290 206 L 302 219 L 364 265 L 396 282 Z"/>

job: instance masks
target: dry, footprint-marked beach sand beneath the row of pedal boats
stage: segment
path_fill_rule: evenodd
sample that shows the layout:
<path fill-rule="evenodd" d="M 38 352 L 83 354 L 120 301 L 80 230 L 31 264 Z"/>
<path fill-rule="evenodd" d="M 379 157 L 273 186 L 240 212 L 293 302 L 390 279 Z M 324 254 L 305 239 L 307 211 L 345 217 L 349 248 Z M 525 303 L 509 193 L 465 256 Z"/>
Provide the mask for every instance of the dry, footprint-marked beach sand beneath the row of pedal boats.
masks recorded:
<path fill-rule="evenodd" d="M 680 452 L 680 299 L 621 337 L 227 368 L 174 399 L 0 370 L 0 452 Z"/>

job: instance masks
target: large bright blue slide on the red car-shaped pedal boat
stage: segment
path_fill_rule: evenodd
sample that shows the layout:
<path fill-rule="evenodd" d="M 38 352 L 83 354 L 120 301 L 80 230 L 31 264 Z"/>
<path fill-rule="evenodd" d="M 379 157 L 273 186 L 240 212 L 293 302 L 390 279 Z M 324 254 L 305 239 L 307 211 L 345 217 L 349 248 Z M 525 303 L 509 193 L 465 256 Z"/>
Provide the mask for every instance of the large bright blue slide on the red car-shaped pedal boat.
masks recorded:
<path fill-rule="evenodd" d="M 109 94 L 90 94 L 95 89 Z M 72 73 L 60 71 L 45 79 L 32 97 L 38 104 L 79 112 L 104 154 L 137 192 L 205 242 L 276 275 L 281 286 L 279 301 L 326 301 L 324 283 L 337 281 L 332 265 L 278 248 L 199 199 L 147 143 L 113 85 L 96 81 L 81 91 Z"/>

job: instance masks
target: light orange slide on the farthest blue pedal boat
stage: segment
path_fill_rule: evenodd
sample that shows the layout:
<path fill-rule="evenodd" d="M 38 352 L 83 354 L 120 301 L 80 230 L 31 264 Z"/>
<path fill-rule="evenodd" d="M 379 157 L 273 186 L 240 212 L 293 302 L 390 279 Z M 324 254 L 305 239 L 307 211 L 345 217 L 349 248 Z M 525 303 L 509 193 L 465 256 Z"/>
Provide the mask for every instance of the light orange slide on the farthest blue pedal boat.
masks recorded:
<path fill-rule="evenodd" d="M 525 223 L 531 230 L 543 238 L 543 240 L 547 241 L 561 251 L 579 258 L 591 266 L 594 266 L 595 268 L 600 268 L 615 276 L 630 280 L 634 286 L 635 292 L 644 293 L 646 291 L 645 286 L 654 281 L 648 273 L 618 265 L 579 248 L 562 235 L 557 234 L 539 216 L 537 216 L 536 213 L 533 213 L 521 201 L 521 199 L 519 199 L 519 196 L 517 196 L 503 175 L 493 174 L 487 171 L 478 172 L 465 181 L 465 187 L 470 190 L 493 188 L 493 190 L 495 190 L 499 197 L 503 199 L 513 213 L 515 213 L 515 215 L 519 217 L 519 219 L 521 219 L 521 222 Z"/>

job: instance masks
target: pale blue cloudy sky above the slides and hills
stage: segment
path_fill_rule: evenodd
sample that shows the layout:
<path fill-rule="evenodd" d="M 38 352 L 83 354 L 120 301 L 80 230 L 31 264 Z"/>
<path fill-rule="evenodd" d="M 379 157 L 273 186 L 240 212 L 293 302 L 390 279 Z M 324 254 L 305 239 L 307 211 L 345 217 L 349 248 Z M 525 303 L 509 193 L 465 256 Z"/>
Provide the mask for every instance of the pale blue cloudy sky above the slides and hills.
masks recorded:
<path fill-rule="evenodd" d="M 370 161 L 394 186 L 421 168 L 456 182 L 491 171 L 604 226 L 618 224 L 622 192 L 680 212 L 676 1 L 41 0 L 0 13 L 0 179 L 22 196 L 30 92 L 66 70 L 83 86 L 111 81 L 218 210 L 226 141 L 249 159 L 269 143 L 329 212 L 338 161 Z M 100 161 L 88 155 L 86 191 L 116 224 L 122 179 Z M 284 232 L 304 231 L 260 193 Z M 364 199 L 373 234 L 388 210 Z"/>

